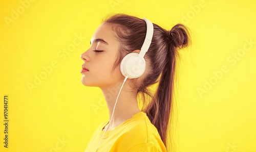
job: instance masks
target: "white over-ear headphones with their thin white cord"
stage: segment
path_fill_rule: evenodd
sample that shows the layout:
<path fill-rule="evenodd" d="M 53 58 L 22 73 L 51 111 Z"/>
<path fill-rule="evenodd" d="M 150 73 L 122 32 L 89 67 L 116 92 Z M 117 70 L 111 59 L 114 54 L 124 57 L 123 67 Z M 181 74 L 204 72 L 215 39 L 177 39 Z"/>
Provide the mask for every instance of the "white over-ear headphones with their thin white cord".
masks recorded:
<path fill-rule="evenodd" d="M 124 82 L 126 81 L 127 78 L 134 79 L 134 78 L 140 77 L 144 73 L 145 68 L 146 68 L 146 62 L 145 62 L 144 56 L 145 56 L 148 48 L 150 48 L 150 44 L 151 44 L 153 33 L 154 33 L 154 27 L 153 27 L 153 23 L 150 20 L 147 20 L 145 18 L 143 18 L 143 19 L 146 21 L 146 37 L 145 37 L 144 43 L 142 44 L 142 47 L 140 49 L 140 53 L 139 54 L 138 53 L 127 54 L 122 59 L 121 64 L 120 64 L 121 73 L 125 77 L 125 79 L 123 81 L 123 84 L 124 84 Z M 118 99 L 119 94 L 122 90 L 123 84 L 122 84 L 122 86 L 120 88 L 120 91 L 117 95 L 117 99 Z M 117 99 L 116 99 L 116 103 L 117 103 Z M 116 103 L 115 103 L 115 106 L 114 106 L 113 113 L 112 113 L 111 119 L 109 121 L 109 124 L 110 124 L 110 122 L 112 120 L 112 117 L 114 115 L 115 108 L 116 108 Z M 106 129 L 105 129 L 105 131 L 104 131 L 104 133 L 103 133 L 95 151 L 97 151 L 97 149 L 99 147 L 99 144 L 100 144 L 102 138 L 104 137 L 104 134 L 105 134 L 106 130 L 108 130 L 108 128 L 109 128 L 109 125 L 106 127 Z"/>

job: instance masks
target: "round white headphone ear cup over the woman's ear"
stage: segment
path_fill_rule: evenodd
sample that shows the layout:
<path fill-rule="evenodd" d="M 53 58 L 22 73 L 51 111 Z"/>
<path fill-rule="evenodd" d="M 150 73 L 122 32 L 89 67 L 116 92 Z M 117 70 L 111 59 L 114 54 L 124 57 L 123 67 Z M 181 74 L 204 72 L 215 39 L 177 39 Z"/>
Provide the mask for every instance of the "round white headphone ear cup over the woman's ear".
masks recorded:
<path fill-rule="evenodd" d="M 127 54 L 121 61 L 120 71 L 124 77 L 129 79 L 140 77 L 146 68 L 144 58 L 140 58 L 138 53 Z"/>

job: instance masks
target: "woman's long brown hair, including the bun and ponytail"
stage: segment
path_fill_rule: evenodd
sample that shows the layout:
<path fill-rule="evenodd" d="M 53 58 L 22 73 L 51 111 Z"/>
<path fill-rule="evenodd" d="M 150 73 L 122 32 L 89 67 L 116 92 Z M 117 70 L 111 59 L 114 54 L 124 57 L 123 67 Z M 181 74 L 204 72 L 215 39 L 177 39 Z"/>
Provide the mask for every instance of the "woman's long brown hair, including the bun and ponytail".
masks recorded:
<path fill-rule="evenodd" d="M 114 35 L 120 41 L 119 53 L 113 67 L 115 69 L 126 54 L 141 48 L 146 35 L 146 23 L 143 19 L 126 14 L 109 16 L 103 23 L 112 25 Z M 142 78 L 132 81 L 137 87 L 137 93 L 142 95 L 142 111 L 156 126 L 167 147 L 168 123 L 173 107 L 176 55 L 178 49 L 188 45 L 189 33 L 183 24 L 176 24 L 170 31 L 155 23 L 153 25 L 152 43 L 144 57 L 147 72 L 143 73 Z M 156 83 L 159 84 L 153 96 L 148 87 Z M 150 102 L 146 101 L 145 95 L 151 97 Z"/>

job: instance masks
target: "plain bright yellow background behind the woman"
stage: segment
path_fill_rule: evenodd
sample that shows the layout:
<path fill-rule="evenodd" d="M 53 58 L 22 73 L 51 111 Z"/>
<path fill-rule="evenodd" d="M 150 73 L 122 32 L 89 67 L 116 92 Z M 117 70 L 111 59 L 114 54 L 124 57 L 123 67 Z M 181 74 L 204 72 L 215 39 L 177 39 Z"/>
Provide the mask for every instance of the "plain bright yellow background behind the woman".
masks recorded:
<path fill-rule="evenodd" d="M 191 31 L 192 45 L 180 51 L 177 66 L 177 151 L 256 151 L 255 6 L 253 0 L 1 1 L 0 151 L 84 151 L 109 116 L 100 89 L 81 84 L 80 55 L 109 13 L 167 30 L 181 22 Z M 77 35 L 81 43 L 69 51 Z M 39 75 L 44 80 L 29 89 Z"/>

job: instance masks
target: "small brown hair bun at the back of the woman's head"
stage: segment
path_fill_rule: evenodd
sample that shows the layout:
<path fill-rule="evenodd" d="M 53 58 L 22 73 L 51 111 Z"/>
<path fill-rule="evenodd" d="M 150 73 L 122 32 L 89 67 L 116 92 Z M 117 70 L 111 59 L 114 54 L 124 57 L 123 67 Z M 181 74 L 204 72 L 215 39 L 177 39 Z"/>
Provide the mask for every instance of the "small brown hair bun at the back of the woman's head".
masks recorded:
<path fill-rule="evenodd" d="M 183 48 L 188 45 L 189 33 L 183 24 L 176 24 L 170 31 L 169 37 L 173 40 L 174 47 Z"/>

